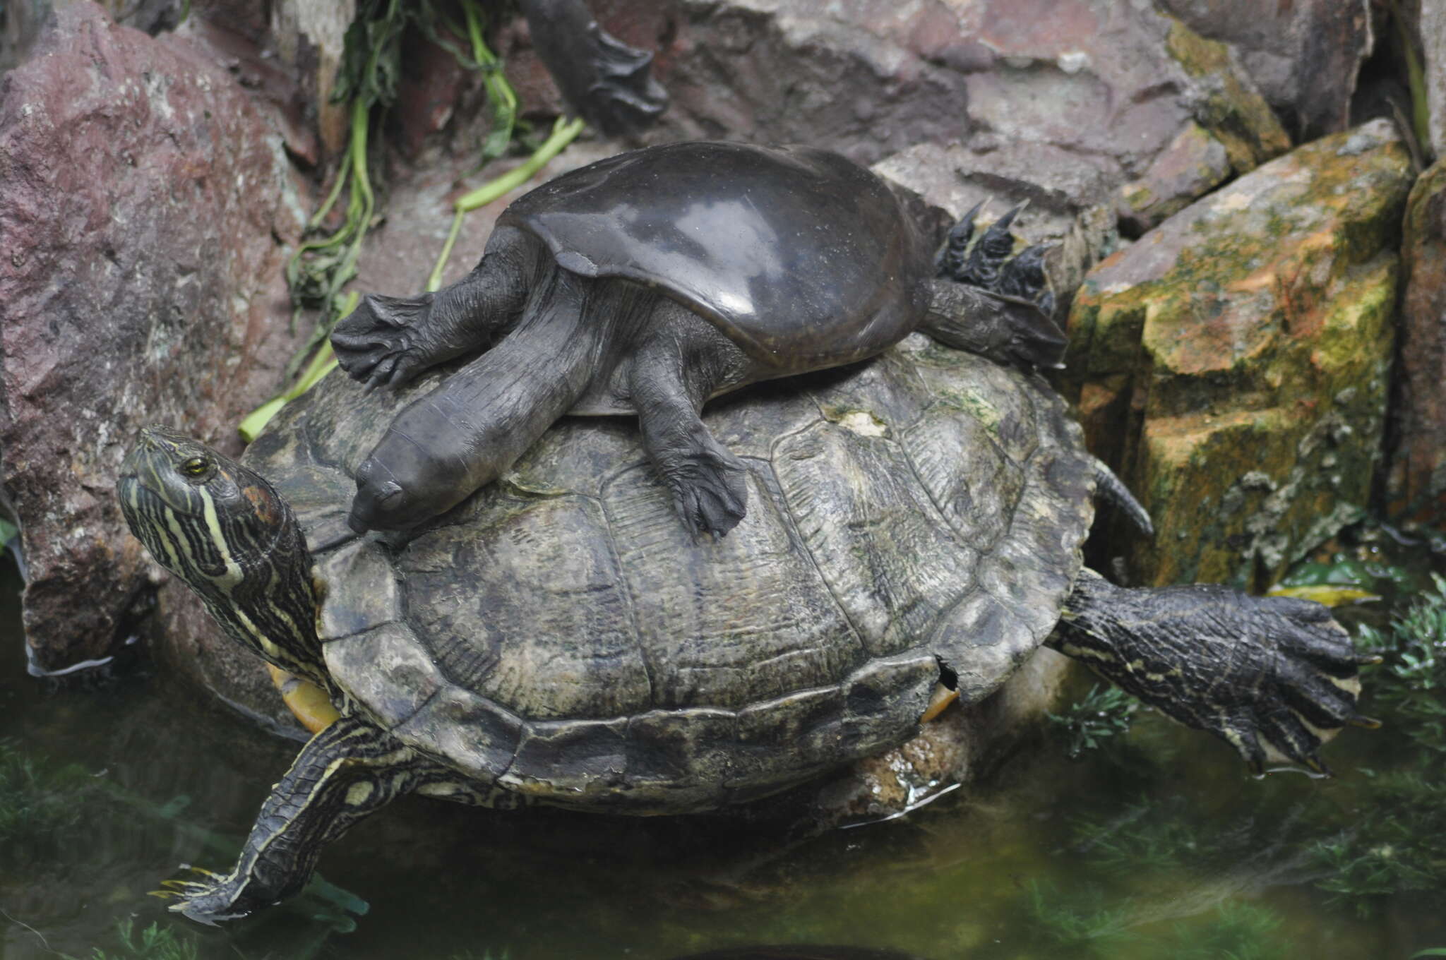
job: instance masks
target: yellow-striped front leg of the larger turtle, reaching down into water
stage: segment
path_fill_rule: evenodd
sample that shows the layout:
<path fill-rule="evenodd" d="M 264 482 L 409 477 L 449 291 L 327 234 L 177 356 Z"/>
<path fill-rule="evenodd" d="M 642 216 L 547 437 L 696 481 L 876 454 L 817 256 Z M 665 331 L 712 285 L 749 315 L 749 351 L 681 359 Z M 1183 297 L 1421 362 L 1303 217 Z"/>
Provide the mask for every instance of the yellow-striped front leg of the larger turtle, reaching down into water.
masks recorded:
<path fill-rule="evenodd" d="M 194 869 L 156 892 L 171 909 L 214 924 L 286 899 L 322 847 L 351 824 L 437 779 L 457 779 L 379 727 L 341 717 L 302 747 L 256 815 L 230 873 Z"/>

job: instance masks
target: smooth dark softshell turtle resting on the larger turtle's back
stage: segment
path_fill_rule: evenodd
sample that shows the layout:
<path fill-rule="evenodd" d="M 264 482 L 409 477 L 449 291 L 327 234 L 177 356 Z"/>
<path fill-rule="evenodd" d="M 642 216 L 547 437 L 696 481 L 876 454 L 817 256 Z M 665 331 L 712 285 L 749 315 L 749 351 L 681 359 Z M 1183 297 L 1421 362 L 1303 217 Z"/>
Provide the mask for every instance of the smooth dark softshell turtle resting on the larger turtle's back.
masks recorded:
<path fill-rule="evenodd" d="M 698 418 L 710 398 L 870 357 L 915 327 L 1056 364 L 1064 335 L 1035 305 L 936 276 L 899 191 L 827 150 L 700 142 L 528 192 L 467 278 L 367 296 L 337 325 L 337 359 L 372 386 L 486 350 L 398 413 L 357 471 L 353 528 L 448 510 L 571 412 L 636 413 L 684 523 L 722 535 L 746 512 L 746 470 Z"/>

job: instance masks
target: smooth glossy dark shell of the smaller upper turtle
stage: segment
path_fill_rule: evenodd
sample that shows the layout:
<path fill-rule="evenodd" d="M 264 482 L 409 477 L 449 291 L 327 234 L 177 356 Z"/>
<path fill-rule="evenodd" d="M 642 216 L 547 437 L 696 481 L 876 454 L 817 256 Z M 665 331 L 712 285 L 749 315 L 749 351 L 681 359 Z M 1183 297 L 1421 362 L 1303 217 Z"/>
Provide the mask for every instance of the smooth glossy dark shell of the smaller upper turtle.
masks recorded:
<path fill-rule="evenodd" d="M 633 150 L 548 181 L 499 224 L 574 273 L 658 286 L 781 372 L 873 356 L 928 304 L 928 244 L 882 179 L 827 150 Z"/>

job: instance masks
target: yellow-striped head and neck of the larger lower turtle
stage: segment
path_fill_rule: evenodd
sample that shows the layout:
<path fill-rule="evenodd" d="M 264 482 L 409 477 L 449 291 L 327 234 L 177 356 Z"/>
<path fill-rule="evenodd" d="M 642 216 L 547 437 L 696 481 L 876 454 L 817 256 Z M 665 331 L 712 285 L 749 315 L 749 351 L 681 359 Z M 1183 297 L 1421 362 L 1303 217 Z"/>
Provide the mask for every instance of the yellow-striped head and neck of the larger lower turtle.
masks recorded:
<path fill-rule="evenodd" d="M 140 431 L 116 483 L 126 523 L 231 639 L 307 678 L 324 677 L 311 554 L 260 474 L 165 427 Z"/>

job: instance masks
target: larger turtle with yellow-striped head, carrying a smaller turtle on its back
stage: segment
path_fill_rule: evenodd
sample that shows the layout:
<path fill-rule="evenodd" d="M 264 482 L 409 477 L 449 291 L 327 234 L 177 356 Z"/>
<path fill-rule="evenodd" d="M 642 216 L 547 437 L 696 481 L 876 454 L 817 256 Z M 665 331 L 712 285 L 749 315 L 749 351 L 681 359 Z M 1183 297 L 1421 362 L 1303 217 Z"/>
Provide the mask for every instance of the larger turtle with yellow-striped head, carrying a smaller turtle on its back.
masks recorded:
<path fill-rule="evenodd" d="M 163 428 L 126 457 L 121 507 L 150 554 L 341 714 L 236 867 L 174 882 L 176 909 L 296 892 L 324 844 L 406 792 L 633 814 L 759 798 L 908 740 L 937 684 L 977 701 L 1043 643 L 1254 771 L 1320 771 L 1327 732 L 1366 723 L 1325 607 L 1083 568 L 1092 497 L 1128 493 L 1038 374 L 915 334 L 714 406 L 755 503 L 719 542 L 677 523 L 636 431 L 580 419 L 405 545 L 356 535 L 356 470 L 440 376 L 399 399 L 331 376 L 244 466 Z"/>

